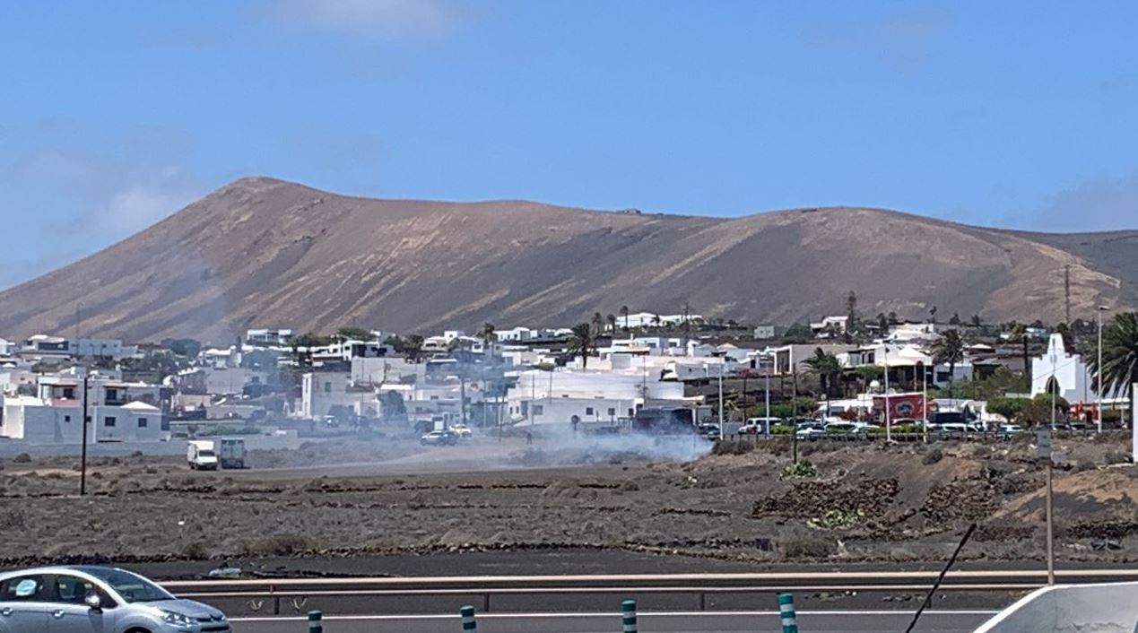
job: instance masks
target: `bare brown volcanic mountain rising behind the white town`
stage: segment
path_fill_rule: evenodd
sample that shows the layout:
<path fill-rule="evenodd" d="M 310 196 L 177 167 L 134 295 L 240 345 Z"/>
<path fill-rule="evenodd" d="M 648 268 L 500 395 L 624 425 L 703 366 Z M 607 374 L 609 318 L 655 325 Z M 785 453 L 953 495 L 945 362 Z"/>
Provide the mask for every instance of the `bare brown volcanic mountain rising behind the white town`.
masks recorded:
<path fill-rule="evenodd" d="M 850 290 L 868 314 L 922 318 L 937 306 L 942 319 L 1056 322 L 1064 271 L 1073 316 L 1138 305 L 1138 231 L 1029 233 L 855 207 L 727 219 L 369 199 L 247 178 L 0 293 L 0 334 L 431 332 L 569 326 L 621 306 L 679 313 L 685 303 L 709 318 L 789 324 L 841 313 Z"/>

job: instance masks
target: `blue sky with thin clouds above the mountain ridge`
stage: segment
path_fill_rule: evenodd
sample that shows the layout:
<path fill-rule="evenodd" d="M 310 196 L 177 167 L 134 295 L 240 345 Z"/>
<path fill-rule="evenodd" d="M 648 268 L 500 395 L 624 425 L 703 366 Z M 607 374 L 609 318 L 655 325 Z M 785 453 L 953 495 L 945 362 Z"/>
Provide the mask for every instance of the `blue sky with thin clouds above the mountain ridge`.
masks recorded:
<path fill-rule="evenodd" d="M 1125 1 L 2 2 L 0 287 L 249 174 L 1138 228 L 1135 24 Z"/>

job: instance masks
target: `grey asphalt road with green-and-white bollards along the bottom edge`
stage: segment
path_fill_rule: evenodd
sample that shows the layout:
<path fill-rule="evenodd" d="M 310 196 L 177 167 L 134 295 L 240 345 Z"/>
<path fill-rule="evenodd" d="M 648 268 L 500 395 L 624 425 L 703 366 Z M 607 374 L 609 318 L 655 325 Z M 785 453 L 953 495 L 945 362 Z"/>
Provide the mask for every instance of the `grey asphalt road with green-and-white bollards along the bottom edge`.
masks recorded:
<path fill-rule="evenodd" d="M 925 611 L 920 633 L 970 633 L 997 611 Z M 912 611 L 803 611 L 799 630 L 808 633 L 901 633 Z M 234 618 L 234 633 L 305 633 L 307 622 L 292 618 Z M 611 614 L 486 614 L 478 616 L 480 633 L 618 633 L 619 613 Z M 674 611 L 640 615 L 643 633 L 781 633 L 777 611 Z M 324 633 L 459 633 L 457 614 L 423 616 L 327 617 Z"/>

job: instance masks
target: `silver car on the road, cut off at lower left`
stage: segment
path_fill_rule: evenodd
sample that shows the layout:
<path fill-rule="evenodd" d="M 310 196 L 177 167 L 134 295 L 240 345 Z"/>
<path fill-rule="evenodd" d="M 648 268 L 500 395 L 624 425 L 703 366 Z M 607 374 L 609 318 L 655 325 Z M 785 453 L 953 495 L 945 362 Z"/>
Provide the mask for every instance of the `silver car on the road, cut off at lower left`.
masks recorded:
<path fill-rule="evenodd" d="M 231 633 L 225 614 L 123 569 L 0 574 L 0 633 Z"/>

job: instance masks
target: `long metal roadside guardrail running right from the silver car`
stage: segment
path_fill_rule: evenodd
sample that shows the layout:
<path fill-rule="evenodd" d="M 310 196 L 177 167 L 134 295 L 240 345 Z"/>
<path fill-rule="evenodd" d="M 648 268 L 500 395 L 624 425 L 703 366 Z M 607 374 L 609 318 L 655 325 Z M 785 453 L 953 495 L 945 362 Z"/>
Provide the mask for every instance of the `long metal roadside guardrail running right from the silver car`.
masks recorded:
<path fill-rule="evenodd" d="M 668 574 L 619 576 L 445 576 L 401 578 L 273 578 L 209 579 L 164 583 L 171 592 L 197 600 L 263 600 L 280 615 L 281 601 L 308 598 L 477 595 L 481 611 L 490 613 L 501 595 L 644 595 L 688 594 L 700 610 L 719 594 L 780 592 L 908 592 L 927 591 L 935 572 Z M 1135 569 L 1057 572 L 1065 583 L 1138 581 Z M 949 592 L 1030 591 L 1046 584 L 1045 570 L 950 572 L 941 590 Z M 302 602 L 303 603 L 303 602 Z"/>

